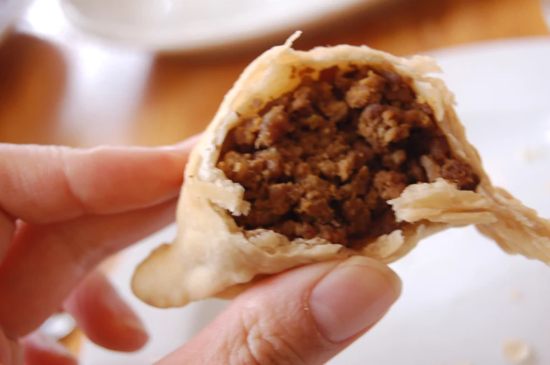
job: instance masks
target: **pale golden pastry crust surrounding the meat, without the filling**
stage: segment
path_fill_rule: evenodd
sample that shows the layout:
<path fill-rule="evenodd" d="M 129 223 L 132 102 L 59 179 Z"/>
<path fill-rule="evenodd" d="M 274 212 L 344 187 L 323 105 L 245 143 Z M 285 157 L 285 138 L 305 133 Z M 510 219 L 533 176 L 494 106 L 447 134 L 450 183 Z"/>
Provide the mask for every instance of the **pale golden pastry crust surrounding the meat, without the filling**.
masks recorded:
<path fill-rule="evenodd" d="M 424 237 L 449 227 L 476 224 L 510 254 L 523 254 L 550 263 L 550 224 L 521 205 L 509 193 L 493 188 L 476 149 L 453 109 L 453 94 L 443 81 L 427 76 L 439 71 L 429 57 L 394 57 L 367 47 L 336 46 L 308 52 L 291 49 L 296 35 L 283 46 L 263 53 L 245 69 L 228 92 L 202 135 L 186 167 L 177 210 L 178 235 L 172 245 L 156 249 L 136 270 L 135 294 L 156 307 L 179 307 L 190 301 L 219 296 L 233 298 L 252 282 L 316 261 L 370 256 L 389 263 L 415 247 Z M 416 184 L 390 200 L 406 230 L 378 237 L 360 251 L 333 245 L 321 238 L 287 237 L 271 230 L 243 232 L 232 214 L 247 214 L 244 188 L 216 168 L 221 144 L 238 122 L 238 113 L 251 111 L 255 98 L 268 100 L 298 85 L 295 69 L 321 70 L 350 63 L 387 65 L 411 76 L 419 102 L 429 104 L 451 151 L 472 165 L 480 178 L 476 192 L 459 191 L 447 181 Z M 228 212 L 229 211 L 229 212 Z"/>

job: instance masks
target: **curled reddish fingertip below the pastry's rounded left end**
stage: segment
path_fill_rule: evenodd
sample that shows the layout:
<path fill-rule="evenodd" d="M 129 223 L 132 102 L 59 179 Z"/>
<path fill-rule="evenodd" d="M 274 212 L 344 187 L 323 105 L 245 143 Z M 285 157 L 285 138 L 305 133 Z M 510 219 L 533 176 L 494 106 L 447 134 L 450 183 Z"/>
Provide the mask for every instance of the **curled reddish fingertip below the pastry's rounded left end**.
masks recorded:
<path fill-rule="evenodd" d="M 149 340 L 142 321 L 98 270 L 78 284 L 64 308 L 93 343 L 106 349 L 136 351 Z"/>

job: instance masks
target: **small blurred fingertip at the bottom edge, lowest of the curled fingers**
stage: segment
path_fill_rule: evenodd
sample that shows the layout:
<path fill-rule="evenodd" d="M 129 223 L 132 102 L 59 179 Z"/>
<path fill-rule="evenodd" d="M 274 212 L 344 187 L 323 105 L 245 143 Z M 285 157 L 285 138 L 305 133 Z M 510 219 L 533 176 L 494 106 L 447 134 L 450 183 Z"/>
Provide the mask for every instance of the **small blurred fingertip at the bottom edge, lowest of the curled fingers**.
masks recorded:
<path fill-rule="evenodd" d="M 73 354 L 43 333 L 35 332 L 21 340 L 24 365 L 77 365 Z"/>

